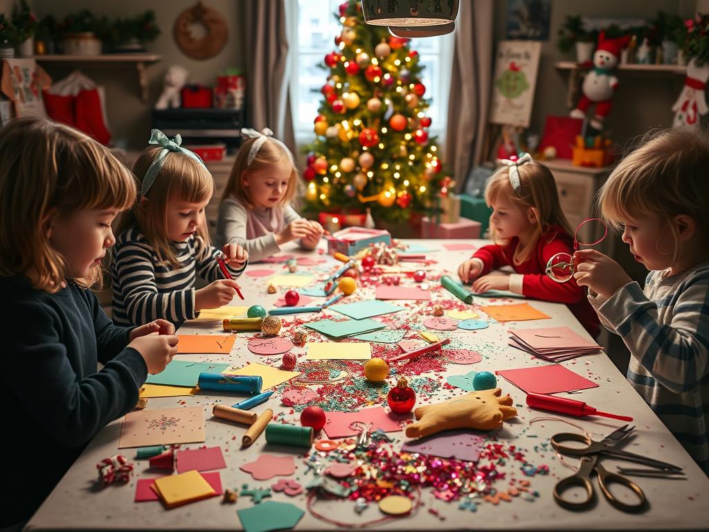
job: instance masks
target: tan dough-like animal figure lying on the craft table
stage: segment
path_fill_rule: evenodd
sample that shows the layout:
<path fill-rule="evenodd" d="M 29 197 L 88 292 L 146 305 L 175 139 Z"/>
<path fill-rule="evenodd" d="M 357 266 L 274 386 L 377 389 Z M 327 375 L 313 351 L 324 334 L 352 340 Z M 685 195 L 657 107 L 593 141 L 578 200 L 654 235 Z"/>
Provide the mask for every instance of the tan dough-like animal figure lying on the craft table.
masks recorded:
<path fill-rule="evenodd" d="M 413 411 L 415 423 L 406 426 L 406 436 L 423 438 L 451 428 L 474 428 L 492 431 L 506 419 L 517 416 L 508 395 L 500 397 L 499 388 L 470 392 L 442 403 L 419 406 Z"/>

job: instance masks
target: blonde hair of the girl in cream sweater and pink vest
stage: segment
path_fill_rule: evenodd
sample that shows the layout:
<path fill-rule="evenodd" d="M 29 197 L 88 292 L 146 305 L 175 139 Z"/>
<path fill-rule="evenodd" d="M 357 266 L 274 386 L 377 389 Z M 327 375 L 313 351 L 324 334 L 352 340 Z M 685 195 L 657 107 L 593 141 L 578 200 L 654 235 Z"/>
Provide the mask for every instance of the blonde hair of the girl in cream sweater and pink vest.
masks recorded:
<path fill-rule="evenodd" d="M 248 209 L 254 208 L 254 202 L 251 199 L 247 187 L 244 187 L 244 177 L 246 174 L 251 172 L 259 172 L 259 170 L 267 170 L 270 165 L 274 165 L 287 157 L 288 160 L 293 165 L 293 170 L 291 171 L 291 177 L 288 180 L 288 187 L 286 188 L 286 193 L 279 201 L 279 206 L 284 206 L 288 204 L 296 194 L 298 189 L 298 171 L 296 170 L 296 163 L 293 155 L 286 150 L 281 143 L 274 142 L 270 138 L 267 138 L 263 143 L 261 148 L 259 148 L 258 153 L 252 160 L 251 164 L 248 164 L 249 151 L 253 143 L 255 143 L 258 138 L 249 138 L 239 148 L 236 154 L 236 160 L 234 161 L 234 166 L 229 174 L 229 180 L 224 187 L 224 192 L 222 193 L 221 200 L 224 201 L 230 196 L 238 199 L 242 204 L 247 206 Z"/>

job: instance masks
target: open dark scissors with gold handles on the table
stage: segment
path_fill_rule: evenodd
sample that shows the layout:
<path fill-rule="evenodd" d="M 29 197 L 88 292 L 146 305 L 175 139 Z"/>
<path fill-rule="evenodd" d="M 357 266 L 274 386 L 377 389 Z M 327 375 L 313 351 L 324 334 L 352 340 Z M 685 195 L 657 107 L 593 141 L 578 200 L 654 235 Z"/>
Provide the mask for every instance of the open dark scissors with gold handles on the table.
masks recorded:
<path fill-rule="evenodd" d="M 629 462 L 637 462 L 648 467 L 653 467 L 659 472 L 664 472 L 667 475 L 676 475 L 681 472 L 682 468 L 667 462 L 661 462 L 635 453 L 629 453 L 625 450 L 617 449 L 616 447 L 625 440 L 627 436 L 635 430 L 635 427 L 628 428 L 624 425 L 618 430 L 613 431 L 601 441 L 591 440 L 588 436 L 577 433 L 559 433 L 552 436 L 552 447 L 563 455 L 579 456 L 581 458 L 581 466 L 576 474 L 571 477 L 566 477 L 557 482 L 554 487 L 554 500 L 559 506 L 563 506 L 570 510 L 584 510 L 593 503 L 594 492 L 591 485 L 591 474 L 595 471 L 598 476 L 598 485 L 601 487 L 603 496 L 608 499 L 610 504 L 622 511 L 635 512 L 642 511 L 647 504 L 645 494 L 640 489 L 640 486 L 632 482 L 632 480 L 605 470 L 598 461 L 603 456 L 618 458 L 619 460 L 627 460 Z M 576 441 L 585 443 L 585 447 L 567 447 L 562 442 Z M 628 504 L 620 499 L 616 499 L 608 487 L 610 484 L 620 484 L 629 489 L 635 494 L 638 501 L 635 504 Z M 571 487 L 581 487 L 586 490 L 586 498 L 581 501 L 569 501 L 563 498 L 564 492 Z"/>

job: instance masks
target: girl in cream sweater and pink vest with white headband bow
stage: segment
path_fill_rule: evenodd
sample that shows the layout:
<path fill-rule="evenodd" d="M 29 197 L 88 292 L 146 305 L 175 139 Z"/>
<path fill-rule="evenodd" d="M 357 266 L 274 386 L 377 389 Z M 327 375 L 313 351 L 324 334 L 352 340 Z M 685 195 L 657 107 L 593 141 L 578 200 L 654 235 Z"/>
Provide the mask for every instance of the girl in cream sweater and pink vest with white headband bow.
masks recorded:
<path fill-rule="evenodd" d="M 242 245 L 251 260 L 274 255 L 292 240 L 298 240 L 303 249 L 315 249 L 323 227 L 301 218 L 290 205 L 298 186 L 293 155 L 268 128 L 261 133 L 241 132 L 247 140 L 236 155 L 222 194 L 217 242 Z"/>

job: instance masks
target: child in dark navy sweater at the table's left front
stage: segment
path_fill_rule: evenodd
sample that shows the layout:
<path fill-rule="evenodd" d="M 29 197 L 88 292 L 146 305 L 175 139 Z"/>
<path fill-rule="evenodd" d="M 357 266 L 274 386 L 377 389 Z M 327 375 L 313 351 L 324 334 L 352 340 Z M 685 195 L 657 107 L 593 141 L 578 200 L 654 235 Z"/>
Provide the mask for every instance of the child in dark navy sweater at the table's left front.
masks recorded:
<path fill-rule="evenodd" d="M 12 486 L 0 528 L 29 519 L 177 353 L 171 323 L 114 326 L 89 291 L 135 193 L 130 172 L 83 133 L 38 118 L 0 130 L 0 455 Z"/>

